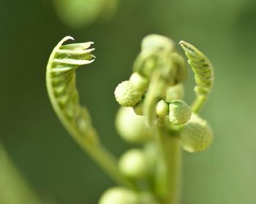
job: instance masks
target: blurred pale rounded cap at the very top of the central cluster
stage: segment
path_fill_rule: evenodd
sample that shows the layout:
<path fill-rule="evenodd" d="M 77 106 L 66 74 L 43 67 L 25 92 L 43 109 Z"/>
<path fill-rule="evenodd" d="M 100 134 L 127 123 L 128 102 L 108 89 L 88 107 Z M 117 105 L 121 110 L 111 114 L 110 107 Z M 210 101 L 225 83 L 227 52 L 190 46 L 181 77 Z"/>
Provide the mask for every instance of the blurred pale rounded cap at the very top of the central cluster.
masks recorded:
<path fill-rule="evenodd" d="M 141 43 L 141 49 L 155 49 L 155 48 L 167 48 L 170 50 L 173 50 L 175 47 L 175 43 L 168 39 L 165 36 L 160 36 L 157 34 L 151 34 L 143 38 L 143 41 Z"/>

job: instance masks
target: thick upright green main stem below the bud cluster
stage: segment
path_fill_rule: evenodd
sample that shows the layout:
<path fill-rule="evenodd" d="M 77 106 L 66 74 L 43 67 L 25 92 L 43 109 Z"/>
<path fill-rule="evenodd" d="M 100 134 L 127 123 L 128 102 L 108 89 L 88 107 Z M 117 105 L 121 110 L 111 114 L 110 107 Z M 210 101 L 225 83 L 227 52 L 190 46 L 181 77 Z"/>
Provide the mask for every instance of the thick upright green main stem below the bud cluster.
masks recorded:
<path fill-rule="evenodd" d="M 157 170 L 157 194 L 163 204 L 178 204 L 181 197 L 182 151 L 180 139 L 170 136 L 164 127 L 157 127 L 159 164 Z"/>

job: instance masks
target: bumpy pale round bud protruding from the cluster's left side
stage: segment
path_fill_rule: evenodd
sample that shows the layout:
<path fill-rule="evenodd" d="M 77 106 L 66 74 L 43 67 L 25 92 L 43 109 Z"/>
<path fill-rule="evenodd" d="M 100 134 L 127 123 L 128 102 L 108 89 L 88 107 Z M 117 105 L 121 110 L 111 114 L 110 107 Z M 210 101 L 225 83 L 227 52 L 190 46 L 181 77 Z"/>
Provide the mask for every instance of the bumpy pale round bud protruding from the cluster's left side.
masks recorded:
<path fill-rule="evenodd" d="M 142 93 L 132 86 L 131 82 L 121 82 L 115 90 L 116 101 L 121 106 L 135 106 L 141 100 Z"/>

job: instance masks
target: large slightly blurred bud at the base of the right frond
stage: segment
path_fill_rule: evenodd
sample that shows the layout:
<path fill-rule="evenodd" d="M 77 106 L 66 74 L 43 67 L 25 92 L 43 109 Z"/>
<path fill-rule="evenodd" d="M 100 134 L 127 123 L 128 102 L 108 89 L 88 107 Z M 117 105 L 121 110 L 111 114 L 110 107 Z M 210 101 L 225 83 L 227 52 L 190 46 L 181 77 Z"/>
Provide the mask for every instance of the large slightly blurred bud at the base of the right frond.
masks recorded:
<path fill-rule="evenodd" d="M 213 132 L 206 120 L 192 114 L 187 125 L 181 130 L 183 149 L 187 152 L 200 152 L 207 149 L 213 141 Z"/>

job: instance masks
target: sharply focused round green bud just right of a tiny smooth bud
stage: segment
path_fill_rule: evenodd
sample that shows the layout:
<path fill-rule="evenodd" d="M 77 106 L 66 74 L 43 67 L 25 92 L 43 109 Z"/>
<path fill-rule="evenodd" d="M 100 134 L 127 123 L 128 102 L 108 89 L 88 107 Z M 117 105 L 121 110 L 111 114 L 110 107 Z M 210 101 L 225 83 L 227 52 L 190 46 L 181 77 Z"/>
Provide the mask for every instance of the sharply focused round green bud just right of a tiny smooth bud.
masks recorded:
<path fill-rule="evenodd" d="M 173 125 L 184 125 L 189 122 L 191 109 L 184 101 L 174 101 L 169 104 L 169 119 Z"/>

